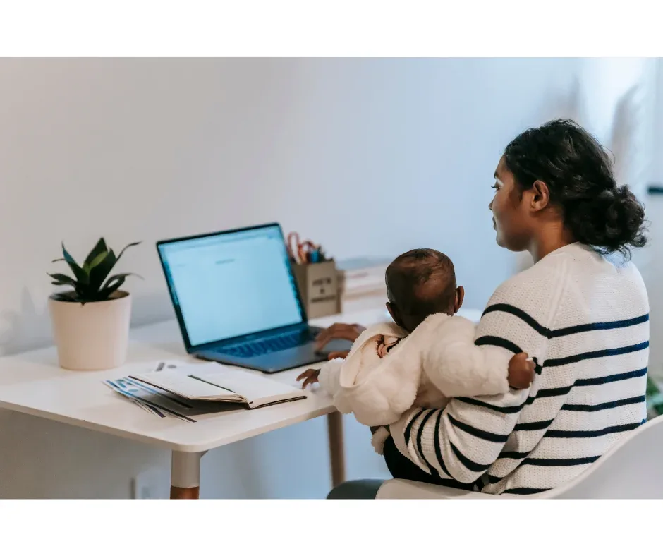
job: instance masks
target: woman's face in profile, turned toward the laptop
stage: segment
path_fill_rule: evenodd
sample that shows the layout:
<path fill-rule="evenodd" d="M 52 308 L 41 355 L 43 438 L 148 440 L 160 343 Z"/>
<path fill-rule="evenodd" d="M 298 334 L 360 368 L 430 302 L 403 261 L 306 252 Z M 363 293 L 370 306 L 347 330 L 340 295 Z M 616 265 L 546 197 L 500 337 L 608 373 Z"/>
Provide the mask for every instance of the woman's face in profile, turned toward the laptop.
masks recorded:
<path fill-rule="evenodd" d="M 523 202 L 526 195 L 521 195 L 504 157 L 499 160 L 494 177 L 495 196 L 488 208 L 492 210 L 497 245 L 512 251 L 523 251 L 530 246 L 532 237 L 526 203 Z"/>

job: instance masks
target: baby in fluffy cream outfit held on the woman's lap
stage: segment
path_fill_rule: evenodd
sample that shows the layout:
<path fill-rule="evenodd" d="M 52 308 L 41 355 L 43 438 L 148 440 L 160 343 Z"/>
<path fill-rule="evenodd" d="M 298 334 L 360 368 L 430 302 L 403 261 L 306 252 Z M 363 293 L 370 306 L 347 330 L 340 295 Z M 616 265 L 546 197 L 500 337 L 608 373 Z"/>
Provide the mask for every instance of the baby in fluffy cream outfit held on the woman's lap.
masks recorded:
<path fill-rule="evenodd" d="M 534 363 L 526 353 L 491 361 L 475 346 L 475 326 L 454 316 L 463 304 L 454 265 L 443 253 L 415 249 L 396 258 L 385 275 L 387 310 L 394 322 L 365 330 L 345 360 L 298 377 L 303 387 L 320 382 L 342 413 L 379 427 L 373 446 L 382 453 L 389 433 L 412 406 L 442 408 L 450 397 L 502 394 L 528 387 Z M 454 361 L 440 365 L 439 360 Z"/>

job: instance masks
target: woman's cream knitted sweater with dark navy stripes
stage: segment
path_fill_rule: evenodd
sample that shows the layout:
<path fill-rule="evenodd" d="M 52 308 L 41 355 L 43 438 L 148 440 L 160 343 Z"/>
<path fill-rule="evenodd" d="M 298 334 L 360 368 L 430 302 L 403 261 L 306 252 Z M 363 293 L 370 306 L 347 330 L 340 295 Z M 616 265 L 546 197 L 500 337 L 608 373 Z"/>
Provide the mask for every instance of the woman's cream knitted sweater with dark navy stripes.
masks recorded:
<path fill-rule="evenodd" d="M 581 243 L 555 250 L 497 289 L 476 334 L 487 352 L 534 356 L 537 374 L 529 389 L 414 408 L 390 426 L 399 452 L 436 478 L 542 492 L 645 421 L 649 305 L 632 264 Z"/>

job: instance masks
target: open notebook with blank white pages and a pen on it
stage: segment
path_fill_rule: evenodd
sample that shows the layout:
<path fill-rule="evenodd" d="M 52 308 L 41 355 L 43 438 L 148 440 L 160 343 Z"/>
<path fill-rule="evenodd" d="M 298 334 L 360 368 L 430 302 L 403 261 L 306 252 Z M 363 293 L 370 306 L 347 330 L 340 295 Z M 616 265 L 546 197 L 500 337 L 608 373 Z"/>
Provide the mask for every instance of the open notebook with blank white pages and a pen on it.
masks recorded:
<path fill-rule="evenodd" d="M 185 399 L 225 401 L 244 404 L 249 409 L 306 398 L 300 389 L 217 363 L 188 365 L 130 378 Z"/>

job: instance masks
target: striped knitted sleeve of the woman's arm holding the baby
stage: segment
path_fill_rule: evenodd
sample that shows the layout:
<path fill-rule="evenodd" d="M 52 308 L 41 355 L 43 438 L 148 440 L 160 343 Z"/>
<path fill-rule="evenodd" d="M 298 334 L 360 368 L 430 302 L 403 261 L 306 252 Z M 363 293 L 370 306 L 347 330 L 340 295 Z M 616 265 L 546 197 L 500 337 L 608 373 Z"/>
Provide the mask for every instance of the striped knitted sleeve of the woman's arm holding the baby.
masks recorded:
<path fill-rule="evenodd" d="M 545 330 L 554 324 L 565 280 L 561 260 L 525 270 L 497 289 L 475 336 L 486 361 L 506 365 L 513 354 L 525 351 L 541 372 L 548 342 Z M 473 483 L 504 449 L 529 392 L 509 389 L 495 396 L 457 397 L 444 409 L 413 408 L 389 429 L 399 452 L 423 471 Z"/>

